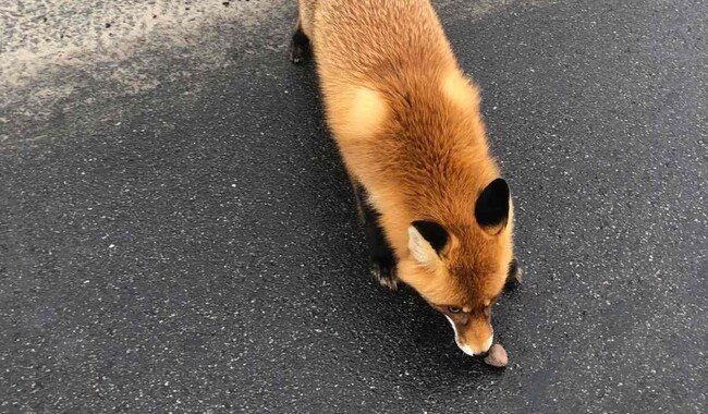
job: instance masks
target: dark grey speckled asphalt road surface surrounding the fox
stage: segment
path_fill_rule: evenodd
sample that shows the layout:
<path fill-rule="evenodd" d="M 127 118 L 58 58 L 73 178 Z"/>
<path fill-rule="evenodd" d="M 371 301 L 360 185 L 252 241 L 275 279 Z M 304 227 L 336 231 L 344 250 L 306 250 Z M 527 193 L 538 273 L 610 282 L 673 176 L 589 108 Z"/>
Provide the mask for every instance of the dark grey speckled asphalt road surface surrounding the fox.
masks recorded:
<path fill-rule="evenodd" d="M 707 2 L 436 2 L 515 196 L 504 372 L 367 276 L 273 3 L 4 89 L 0 412 L 706 412 Z"/>

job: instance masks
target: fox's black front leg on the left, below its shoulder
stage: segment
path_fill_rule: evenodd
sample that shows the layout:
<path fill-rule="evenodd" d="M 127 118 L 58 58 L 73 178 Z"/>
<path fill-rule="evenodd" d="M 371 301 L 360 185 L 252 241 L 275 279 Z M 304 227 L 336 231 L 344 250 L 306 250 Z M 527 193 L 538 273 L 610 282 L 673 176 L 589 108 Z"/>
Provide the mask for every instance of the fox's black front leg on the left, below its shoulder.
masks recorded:
<path fill-rule="evenodd" d="M 393 251 L 383 235 L 383 229 L 379 224 L 380 215 L 366 203 L 366 191 L 361 185 L 354 184 L 354 194 L 359 220 L 369 245 L 369 271 L 381 285 L 394 291 L 399 285 L 395 276 L 396 263 Z"/>

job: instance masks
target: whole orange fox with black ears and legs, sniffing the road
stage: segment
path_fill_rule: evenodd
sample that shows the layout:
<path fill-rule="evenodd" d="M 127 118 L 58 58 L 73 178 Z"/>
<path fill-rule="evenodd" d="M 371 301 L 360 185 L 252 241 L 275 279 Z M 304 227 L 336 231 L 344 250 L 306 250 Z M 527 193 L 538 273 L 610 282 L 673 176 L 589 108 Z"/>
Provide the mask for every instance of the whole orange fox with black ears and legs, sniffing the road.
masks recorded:
<path fill-rule="evenodd" d="M 412 288 L 485 355 L 491 312 L 521 281 L 513 203 L 476 83 L 429 0 L 298 0 L 290 59 L 316 64 L 373 277 Z"/>

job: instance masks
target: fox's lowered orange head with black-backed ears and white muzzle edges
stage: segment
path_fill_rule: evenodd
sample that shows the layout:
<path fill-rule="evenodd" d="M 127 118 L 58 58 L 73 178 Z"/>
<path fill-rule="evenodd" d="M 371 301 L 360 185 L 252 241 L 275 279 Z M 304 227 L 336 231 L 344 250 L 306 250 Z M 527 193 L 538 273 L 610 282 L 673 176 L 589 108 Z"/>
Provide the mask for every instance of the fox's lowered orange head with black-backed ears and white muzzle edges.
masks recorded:
<path fill-rule="evenodd" d="M 448 318 L 457 346 L 468 355 L 492 344 L 491 309 L 516 270 L 512 231 L 503 179 L 479 191 L 468 220 L 420 217 L 408 227 L 408 255 L 399 264 L 399 278 Z"/>

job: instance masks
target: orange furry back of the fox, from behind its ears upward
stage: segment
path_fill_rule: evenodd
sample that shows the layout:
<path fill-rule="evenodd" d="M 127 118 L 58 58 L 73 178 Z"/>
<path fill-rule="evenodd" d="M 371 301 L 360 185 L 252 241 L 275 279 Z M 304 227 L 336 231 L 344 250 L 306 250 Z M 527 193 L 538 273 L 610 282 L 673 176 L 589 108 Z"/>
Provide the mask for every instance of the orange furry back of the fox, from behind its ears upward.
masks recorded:
<path fill-rule="evenodd" d="M 412 217 L 468 220 L 469 200 L 499 171 L 477 90 L 429 1 L 307 4 L 312 20 L 304 29 L 310 31 L 328 123 L 383 222 L 405 229 Z M 389 238 L 403 248 L 407 235 Z"/>

